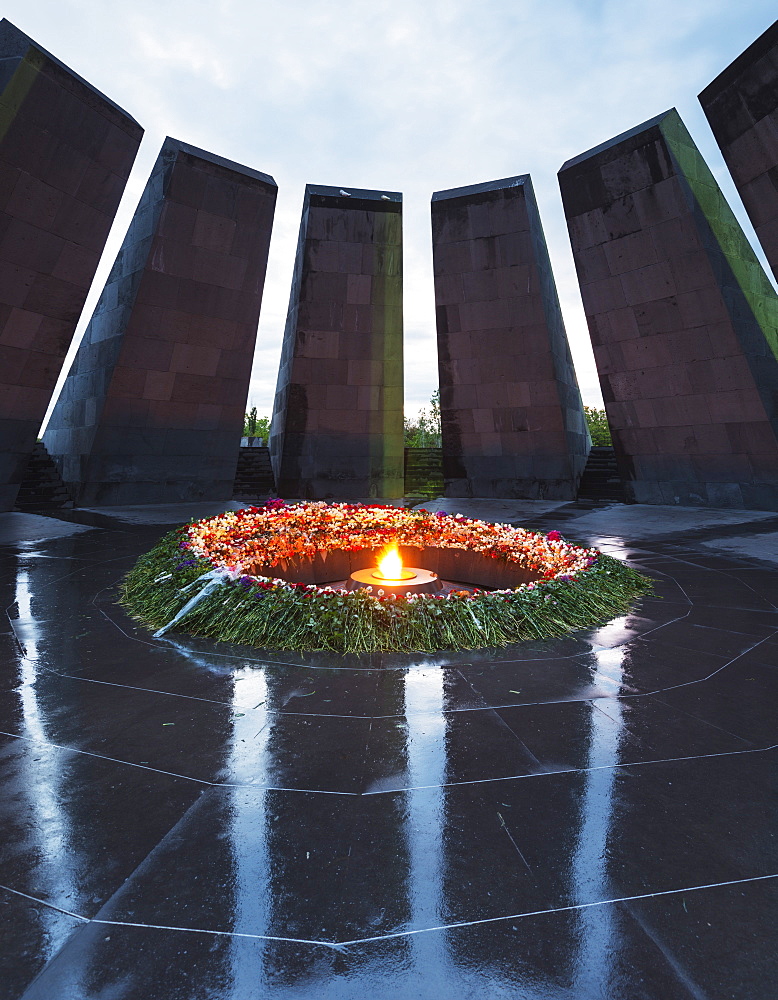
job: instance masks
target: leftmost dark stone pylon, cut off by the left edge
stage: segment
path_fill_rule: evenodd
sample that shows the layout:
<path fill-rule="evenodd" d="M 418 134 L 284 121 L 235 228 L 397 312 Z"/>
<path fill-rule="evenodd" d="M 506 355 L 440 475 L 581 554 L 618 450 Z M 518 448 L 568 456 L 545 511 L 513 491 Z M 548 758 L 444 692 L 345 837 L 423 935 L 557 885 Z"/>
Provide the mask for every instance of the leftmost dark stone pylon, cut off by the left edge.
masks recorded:
<path fill-rule="evenodd" d="M 19 352 L 0 376 L 0 432 L 14 431 L 2 434 L 12 456 L 5 471 L 15 477 L 0 474 L 8 510 L 143 130 L 6 20 L 0 53 L 0 344 Z M 14 388 L 21 392 L 2 391 Z"/>

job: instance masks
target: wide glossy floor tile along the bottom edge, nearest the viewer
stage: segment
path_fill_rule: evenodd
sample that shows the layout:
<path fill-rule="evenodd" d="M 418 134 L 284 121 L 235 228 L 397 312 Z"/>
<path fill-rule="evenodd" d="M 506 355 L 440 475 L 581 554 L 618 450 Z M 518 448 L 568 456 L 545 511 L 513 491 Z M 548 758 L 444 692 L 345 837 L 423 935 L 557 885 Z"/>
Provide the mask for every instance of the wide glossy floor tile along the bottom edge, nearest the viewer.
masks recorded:
<path fill-rule="evenodd" d="M 759 988 L 769 988 L 770 980 L 737 954 L 730 957 L 730 995 L 769 996 Z M 122 993 L 144 1000 L 696 1000 L 716 996 L 723 964 L 692 979 L 672 951 L 660 950 L 616 905 L 339 950 L 93 925 L 73 937 L 24 1000 L 49 1000 L 57 990 L 82 1000 Z"/>

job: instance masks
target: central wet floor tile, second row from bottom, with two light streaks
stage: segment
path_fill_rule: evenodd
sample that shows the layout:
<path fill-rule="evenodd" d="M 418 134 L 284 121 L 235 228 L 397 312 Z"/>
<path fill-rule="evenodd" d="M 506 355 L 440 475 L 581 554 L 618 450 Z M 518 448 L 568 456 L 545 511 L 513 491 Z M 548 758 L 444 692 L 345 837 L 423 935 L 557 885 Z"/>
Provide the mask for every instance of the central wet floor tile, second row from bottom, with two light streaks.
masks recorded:
<path fill-rule="evenodd" d="M 458 790 L 211 789 L 99 916 L 344 941 L 534 910 L 545 901 L 502 808 L 505 822 L 495 810 L 474 827 Z"/>

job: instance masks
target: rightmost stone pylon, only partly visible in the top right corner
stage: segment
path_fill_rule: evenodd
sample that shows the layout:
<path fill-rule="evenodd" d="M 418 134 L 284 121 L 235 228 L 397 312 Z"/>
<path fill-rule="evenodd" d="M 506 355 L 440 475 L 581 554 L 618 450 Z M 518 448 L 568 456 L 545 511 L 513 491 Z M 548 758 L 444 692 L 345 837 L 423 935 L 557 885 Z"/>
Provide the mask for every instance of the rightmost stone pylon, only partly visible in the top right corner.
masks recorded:
<path fill-rule="evenodd" d="M 778 278 L 778 21 L 702 91 L 700 103 Z"/>

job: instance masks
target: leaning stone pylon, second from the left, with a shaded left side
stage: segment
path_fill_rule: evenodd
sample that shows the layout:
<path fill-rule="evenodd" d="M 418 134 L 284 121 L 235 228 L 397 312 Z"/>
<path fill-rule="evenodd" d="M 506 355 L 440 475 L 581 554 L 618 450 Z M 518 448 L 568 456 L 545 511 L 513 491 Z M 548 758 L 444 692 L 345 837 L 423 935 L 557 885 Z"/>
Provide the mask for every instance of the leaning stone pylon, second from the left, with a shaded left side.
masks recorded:
<path fill-rule="evenodd" d="M 275 198 L 165 140 L 44 436 L 78 503 L 230 497 Z"/>

